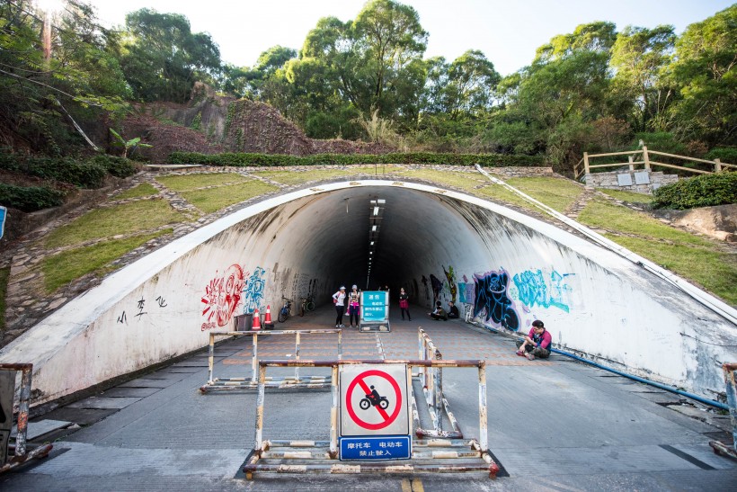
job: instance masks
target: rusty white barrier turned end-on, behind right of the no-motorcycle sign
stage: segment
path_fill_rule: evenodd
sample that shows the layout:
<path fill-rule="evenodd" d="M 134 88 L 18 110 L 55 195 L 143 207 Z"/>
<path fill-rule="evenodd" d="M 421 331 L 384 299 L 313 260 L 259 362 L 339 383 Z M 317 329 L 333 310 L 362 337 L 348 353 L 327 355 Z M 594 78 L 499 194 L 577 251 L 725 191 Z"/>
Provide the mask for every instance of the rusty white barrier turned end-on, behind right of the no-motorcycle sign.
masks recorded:
<path fill-rule="evenodd" d="M 422 328 L 418 328 L 417 337 L 419 339 L 420 359 L 423 361 L 435 360 L 441 361 L 443 358 L 440 350 L 432 343 L 429 335 Z M 450 411 L 448 399 L 443 396 L 443 369 L 442 367 L 421 367 L 418 372 L 420 383 L 422 384 L 422 392 L 425 395 L 428 411 L 432 419 L 434 430 L 422 429 L 420 426 L 420 414 L 417 411 L 417 404 L 414 397 L 412 398 L 412 415 L 414 420 L 415 434 L 417 437 L 441 437 L 446 439 L 463 439 L 463 433 L 458 426 L 456 417 Z M 453 427 L 452 431 L 443 431 L 443 409 L 445 410 L 448 421 Z"/>

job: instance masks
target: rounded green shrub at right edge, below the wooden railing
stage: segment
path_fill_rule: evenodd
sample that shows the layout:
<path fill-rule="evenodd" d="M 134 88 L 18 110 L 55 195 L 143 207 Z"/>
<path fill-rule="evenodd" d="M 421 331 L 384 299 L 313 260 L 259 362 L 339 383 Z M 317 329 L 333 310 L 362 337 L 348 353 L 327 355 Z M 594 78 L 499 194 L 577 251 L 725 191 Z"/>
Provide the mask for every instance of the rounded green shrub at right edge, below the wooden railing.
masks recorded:
<path fill-rule="evenodd" d="M 667 184 L 653 193 L 656 209 L 693 209 L 737 203 L 737 173 L 723 171 Z"/>

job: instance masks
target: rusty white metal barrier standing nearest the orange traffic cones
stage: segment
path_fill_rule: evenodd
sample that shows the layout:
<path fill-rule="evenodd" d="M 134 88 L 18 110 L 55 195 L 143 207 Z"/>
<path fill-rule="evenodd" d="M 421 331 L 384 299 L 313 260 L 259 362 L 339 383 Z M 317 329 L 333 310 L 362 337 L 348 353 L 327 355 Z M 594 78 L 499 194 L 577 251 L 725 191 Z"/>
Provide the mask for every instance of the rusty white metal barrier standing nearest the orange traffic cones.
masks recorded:
<path fill-rule="evenodd" d="M 285 330 L 285 331 L 216 331 L 209 334 L 209 357 L 208 357 L 208 382 L 200 387 L 200 391 L 207 393 L 209 391 L 233 391 L 235 389 L 255 389 L 258 386 L 256 374 L 258 373 L 258 345 L 259 336 L 279 336 L 279 335 L 295 335 L 295 359 L 299 360 L 300 341 L 302 335 L 316 334 L 338 334 L 338 360 L 342 359 L 342 330 L 341 329 L 325 329 L 325 330 Z M 253 336 L 253 357 L 251 360 L 251 379 L 248 378 L 214 378 L 213 367 L 215 365 L 215 338 L 217 336 Z M 300 377 L 299 367 L 294 370 L 294 377 L 270 377 L 266 381 L 269 388 L 326 388 L 330 385 L 328 376 L 306 376 Z"/>

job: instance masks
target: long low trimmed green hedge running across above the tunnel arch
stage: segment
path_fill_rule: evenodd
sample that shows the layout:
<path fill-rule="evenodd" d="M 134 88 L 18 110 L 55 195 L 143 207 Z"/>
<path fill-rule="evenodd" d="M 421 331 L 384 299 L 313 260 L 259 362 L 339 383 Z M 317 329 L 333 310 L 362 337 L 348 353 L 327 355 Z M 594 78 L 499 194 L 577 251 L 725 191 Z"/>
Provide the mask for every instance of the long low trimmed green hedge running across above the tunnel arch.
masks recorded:
<path fill-rule="evenodd" d="M 484 165 L 506 167 L 511 165 L 542 165 L 542 157 L 506 154 L 438 154 L 432 152 L 403 152 L 392 154 L 316 154 L 297 157 L 267 154 L 199 154 L 173 152 L 170 164 L 203 164 L 231 166 L 272 165 L 353 165 L 353 164 L 424 164 L 424 165 Z"/>

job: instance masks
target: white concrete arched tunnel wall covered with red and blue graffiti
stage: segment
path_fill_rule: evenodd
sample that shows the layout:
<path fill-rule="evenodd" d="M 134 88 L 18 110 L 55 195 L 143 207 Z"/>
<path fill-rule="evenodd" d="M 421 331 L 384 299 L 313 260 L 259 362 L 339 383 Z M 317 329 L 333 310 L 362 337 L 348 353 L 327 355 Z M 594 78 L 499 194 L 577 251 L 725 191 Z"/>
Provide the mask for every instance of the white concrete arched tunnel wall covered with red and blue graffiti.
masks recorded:
<path fill-rule="evenodd" d="M 4 347 L 0 361 L 34 364 L 40 404 L 203 347 L 245 308 L 270 304 L 275 318 L 282 294 L 311 291 L 324 304 L 340 283 L 365 288 L 377 198 L 386 208 L 369 288 L 404 286 L 423 307 L 456 297 L 475 304 L 484 325 L 503 318 L 520 334 L 543 319 L 561 348 L 706 398 L 724 392 L 733 323 L 560 228 L 388 181 L 323 184 L 238 210 L 113 273 Z"/>

